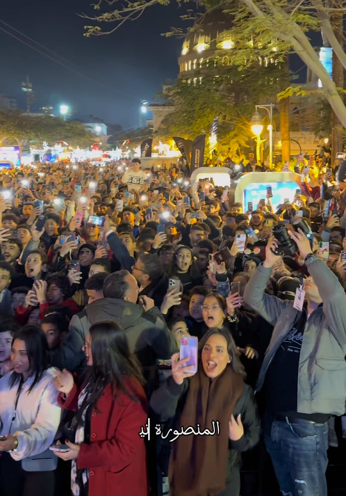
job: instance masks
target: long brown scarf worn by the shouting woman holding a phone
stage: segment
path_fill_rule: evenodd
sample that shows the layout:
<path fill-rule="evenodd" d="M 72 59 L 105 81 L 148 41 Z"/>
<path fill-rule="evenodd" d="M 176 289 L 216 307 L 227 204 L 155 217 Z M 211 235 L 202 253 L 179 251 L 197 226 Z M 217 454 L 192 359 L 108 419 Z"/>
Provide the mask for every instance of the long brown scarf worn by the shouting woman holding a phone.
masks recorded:
<path fill-rule="evenodd" d="M 171 496 L 216 496 L 226 487 L 228 422 L 242 395 L 244 381 L 230 365 L 210 381 L 199 363 L 192 377 L 180 418 L 180 428 L 193 426 L 213 430 L 219 421 L 219 435 L 181 435 L 173 442 L 169 463 Z"/>

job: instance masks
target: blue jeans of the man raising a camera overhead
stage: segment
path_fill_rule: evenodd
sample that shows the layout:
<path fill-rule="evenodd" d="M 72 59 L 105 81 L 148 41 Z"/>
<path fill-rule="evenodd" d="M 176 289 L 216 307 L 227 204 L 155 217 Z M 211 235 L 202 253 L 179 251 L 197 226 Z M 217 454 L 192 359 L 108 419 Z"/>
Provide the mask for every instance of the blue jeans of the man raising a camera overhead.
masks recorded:
<path fill-rule="evenodd" d="M 327 496 L 328 425 L 290 424 L 266 413 L 264 438 L 284 496 Z"/>

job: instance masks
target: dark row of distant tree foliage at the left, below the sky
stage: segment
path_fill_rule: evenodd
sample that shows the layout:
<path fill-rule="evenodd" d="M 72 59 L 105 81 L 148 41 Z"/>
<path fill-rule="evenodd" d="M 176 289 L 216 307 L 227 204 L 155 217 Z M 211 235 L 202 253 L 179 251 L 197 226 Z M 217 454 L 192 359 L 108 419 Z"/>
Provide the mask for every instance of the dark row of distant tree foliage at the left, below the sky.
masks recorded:
<path fill-rule="evenodd" d="M 54 145 L 63 140 L 71 146 L 81 148 L 91 146 L 97 139 L 81 123 L 65 122 L 60 117 L 49 115 L 30 116 L 19 110 L 0 110 L 0 139 L 2 137 L 15 137 L 37 146 L 41 146 L 43 141 Z"/>

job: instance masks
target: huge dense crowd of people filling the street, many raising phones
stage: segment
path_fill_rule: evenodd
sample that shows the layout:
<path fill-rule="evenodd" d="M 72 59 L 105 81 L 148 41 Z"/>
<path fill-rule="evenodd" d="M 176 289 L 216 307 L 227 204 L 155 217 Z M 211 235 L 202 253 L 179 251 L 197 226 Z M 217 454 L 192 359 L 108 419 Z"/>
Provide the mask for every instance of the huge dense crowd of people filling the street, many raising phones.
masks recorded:
<path fill-rule="evenodd" d="M 327 496 L 346 162 L 323 165 L 251 211 L 183 164 L 2 169 L 3 496 L 239 496 L 261 443 L 282 495 Z"/>

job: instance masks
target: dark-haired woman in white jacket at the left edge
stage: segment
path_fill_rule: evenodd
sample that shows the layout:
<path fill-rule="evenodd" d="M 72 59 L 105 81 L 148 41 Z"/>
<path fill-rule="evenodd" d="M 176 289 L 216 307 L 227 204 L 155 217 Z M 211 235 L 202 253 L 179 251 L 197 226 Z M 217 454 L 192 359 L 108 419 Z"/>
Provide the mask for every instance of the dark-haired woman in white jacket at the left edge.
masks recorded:
<path fill-rule="evenodd" d="M 52 464 L 48 461 L 48 467 L 42 467 L 37 460 L 28 459 L 49 448 L 61 418 L 52 370 L 47 370 L 47 351 L 46 336 L 38 327 L 26 325 L 15 332 L 11 348 L 14 370 L 0 379 L 3 496 L 54 494 Z M 46 458 L 52 457 L 51 453 Z M 41 471 L 42 468 L 49 470 Z"/>

